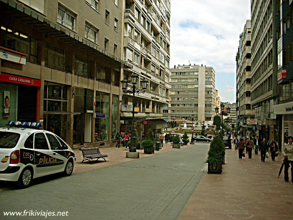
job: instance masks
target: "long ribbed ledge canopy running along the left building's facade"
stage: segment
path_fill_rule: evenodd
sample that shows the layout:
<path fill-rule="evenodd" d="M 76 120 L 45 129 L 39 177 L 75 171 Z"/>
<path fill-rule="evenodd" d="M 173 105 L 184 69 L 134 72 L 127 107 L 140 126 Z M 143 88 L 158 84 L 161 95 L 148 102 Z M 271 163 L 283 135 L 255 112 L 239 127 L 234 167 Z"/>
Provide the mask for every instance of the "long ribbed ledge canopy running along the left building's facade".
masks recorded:
<path fill-rule="evenodd" d="M 0 1 L 0 13 L 5 16 L 6 21 L 20 21 L 34 29 L 43 32 L 47 36 L 52 36 L 64 43 L 72 45 L 85 51 L 101 60 L 108 62 L 114 68 L 133 68 L 128 62 L 115 57 L 107 51 L 99 48 L 90 40 L 79 37 L 74 31 L 69 31 L 62 26 L 47 20 L 44 16 L 14 1 Z M 1 24 L 3 25 L 3 24 Z"/>

